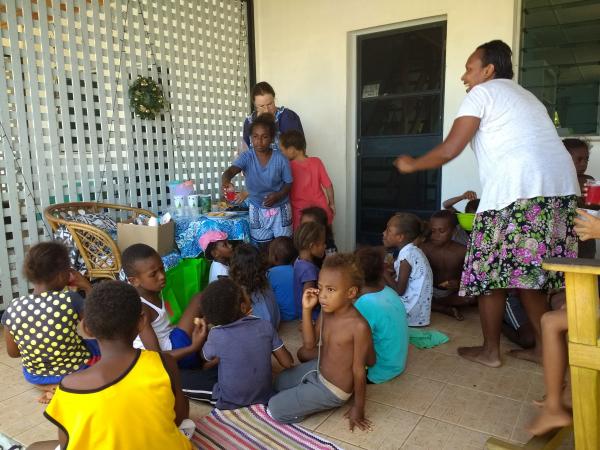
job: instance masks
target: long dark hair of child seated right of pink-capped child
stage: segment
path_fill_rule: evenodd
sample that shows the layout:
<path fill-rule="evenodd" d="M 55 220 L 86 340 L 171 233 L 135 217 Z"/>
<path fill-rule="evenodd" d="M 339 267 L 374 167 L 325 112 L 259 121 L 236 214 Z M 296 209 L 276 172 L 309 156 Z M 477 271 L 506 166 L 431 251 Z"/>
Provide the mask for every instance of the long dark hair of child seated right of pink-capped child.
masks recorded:
<path fill-rule="evenodd" d="M 238 245 L 229 264 L 229 278 L 245 288 L 249 295 L 264 291 L 269 287 L 264 255 L 253 245 Z"/>

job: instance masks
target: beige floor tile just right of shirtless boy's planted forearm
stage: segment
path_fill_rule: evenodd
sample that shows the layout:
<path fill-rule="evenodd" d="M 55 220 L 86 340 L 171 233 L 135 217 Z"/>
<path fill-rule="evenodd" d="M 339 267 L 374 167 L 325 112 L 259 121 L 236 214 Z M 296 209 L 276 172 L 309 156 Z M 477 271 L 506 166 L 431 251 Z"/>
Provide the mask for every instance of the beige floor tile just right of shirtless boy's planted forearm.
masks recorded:
<path fill-rule="evenodd" d="M 439 381 L 403 374 L 391 381 L 367 386 L 367 399 L 422 415 L 444 388 Z"/>

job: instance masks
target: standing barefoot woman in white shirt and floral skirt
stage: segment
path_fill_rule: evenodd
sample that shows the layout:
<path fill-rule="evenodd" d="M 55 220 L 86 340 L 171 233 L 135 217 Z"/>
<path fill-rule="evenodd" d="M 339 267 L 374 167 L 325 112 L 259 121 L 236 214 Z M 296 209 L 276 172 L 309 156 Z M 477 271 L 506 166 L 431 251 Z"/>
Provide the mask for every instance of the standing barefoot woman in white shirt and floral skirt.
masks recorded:
<path fill-rule="evenodd" d="M 532 350 L 514 356 L 539 361 L 540 319 L 546 292 L 564 282 L 541 268 L 550 257 L 577 257 L 573 219 L 579 185 L 573 162 L 545 107 L 512 81 L 510 47 L 479 46 L 461 80 L 467 88 L 457 119 L 440 145 L 394 165 L 402 173 L 440 167 L 471 143 L 482 195 L 469 242 L 460 295 L 479 297 L 483 345 L 459 355 L 499 367 L 500 330 L 507 289 L 518 289 L 537 338 Z"/>

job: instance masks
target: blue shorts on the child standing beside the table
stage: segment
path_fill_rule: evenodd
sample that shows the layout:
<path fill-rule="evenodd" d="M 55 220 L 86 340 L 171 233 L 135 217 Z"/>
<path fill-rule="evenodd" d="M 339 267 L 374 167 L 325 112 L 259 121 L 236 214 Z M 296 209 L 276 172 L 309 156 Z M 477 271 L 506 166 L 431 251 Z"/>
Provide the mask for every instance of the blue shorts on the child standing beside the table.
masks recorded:
<path fill-rule="evenodd" d="M 292 235 L 290 202 L 274 208 L 259 208 L 250 204 L 250 237 L 255 244 L 266 244 L 279 236 Z"/>

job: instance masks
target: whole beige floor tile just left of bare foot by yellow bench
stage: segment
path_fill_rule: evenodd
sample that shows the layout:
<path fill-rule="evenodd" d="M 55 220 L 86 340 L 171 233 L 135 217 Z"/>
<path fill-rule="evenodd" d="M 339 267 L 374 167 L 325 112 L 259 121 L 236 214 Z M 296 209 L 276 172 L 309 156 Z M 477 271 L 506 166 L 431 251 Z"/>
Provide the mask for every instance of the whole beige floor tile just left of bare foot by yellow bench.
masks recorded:
<path fill-rule="evenodd" d="M 449 384 L 425 415 L 509 439 L 520 408 L 521 402 Z"/>

